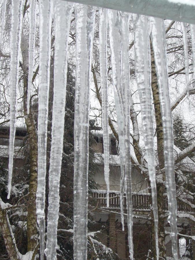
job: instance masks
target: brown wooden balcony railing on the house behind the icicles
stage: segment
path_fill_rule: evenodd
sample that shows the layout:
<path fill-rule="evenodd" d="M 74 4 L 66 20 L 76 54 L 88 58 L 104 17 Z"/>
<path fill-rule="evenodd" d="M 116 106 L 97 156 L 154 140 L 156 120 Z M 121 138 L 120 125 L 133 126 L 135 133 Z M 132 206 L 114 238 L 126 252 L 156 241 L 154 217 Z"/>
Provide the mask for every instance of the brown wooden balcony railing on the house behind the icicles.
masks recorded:
<path fill-rule="evenodd" d="M 92 197 L 96 198 L 99 201 L 99 207 L 106 208 L 107 207 L 107 194 L 105 191 L 93 191 Z M 143 193 L 143 194 L 133 194 L 132 195 L 132 202 L 133 202 L 133 210 L 134 211 L 150 211 L 151 205 L 150 205 L 150 194 L 149 193 Z M 190 201 L 190 200 L 189 200 Z M 190 201 L 193 204 L 193 201 Z M 126 196 L 124 194 L 123 198 L 123 205 L 124 209 L 127 208 L 126 203 Z M 109 207 L 110 208 L 120 208 L 120 194 L 119 192 L 110 192 L 109 193 Z M 168 201 L 167 198 L 164 198 L 164 209 L 168 211 Z M 177 201 L 177 209 L 179 212 L 194 212 L 195 210 L 190 207 L 190 205 L 187 205 L 186 203 L 183 203 L 182 201 Z"/>

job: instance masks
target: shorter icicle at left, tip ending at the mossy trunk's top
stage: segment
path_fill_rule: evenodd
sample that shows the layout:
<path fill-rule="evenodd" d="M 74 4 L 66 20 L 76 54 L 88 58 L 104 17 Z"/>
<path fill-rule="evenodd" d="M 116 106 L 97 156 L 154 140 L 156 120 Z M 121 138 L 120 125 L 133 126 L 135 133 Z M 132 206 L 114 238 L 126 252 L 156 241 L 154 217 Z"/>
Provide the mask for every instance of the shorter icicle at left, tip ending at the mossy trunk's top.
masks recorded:
<path fill-rule="evenodd" d="M 35 48 L 35 27 L 36 27 L 36 0 L 30 2 L 29 17 L 29 71 L 28 71 L 28 90 L 27 90 L 27 114 L 29 114 L 30 92 L 33 75 L 34 64 L 34 48 Z"/>

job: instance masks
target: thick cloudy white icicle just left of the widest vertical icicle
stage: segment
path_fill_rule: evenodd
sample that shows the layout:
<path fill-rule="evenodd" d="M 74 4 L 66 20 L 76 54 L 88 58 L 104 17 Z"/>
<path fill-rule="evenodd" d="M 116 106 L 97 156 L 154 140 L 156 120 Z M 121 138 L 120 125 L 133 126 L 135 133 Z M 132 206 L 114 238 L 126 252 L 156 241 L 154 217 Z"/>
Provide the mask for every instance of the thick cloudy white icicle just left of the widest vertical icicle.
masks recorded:
<path fill-rule="evenodd" d="M 66 105 L 67 50 L 72 9 L 72 3 L 60 0 L 55 1 L 55 62 L 51 132 L 52 140 L 49 167 L 47 244 L 45 249 L 47 259 L 57 259 L 57 223 L 60 206 L 59 188 Z"/>

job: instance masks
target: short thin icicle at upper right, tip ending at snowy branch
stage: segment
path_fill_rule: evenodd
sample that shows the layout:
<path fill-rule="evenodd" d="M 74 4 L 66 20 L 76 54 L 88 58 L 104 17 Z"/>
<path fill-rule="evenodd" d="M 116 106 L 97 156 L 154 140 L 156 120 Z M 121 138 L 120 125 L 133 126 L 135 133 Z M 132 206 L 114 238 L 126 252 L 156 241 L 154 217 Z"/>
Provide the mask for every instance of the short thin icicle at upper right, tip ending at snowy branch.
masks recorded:
<path fill-rule="evenodd" d="M 186 79 L 186 88 L 187 96 L 189 96 L 189 63 L 188 63 L 188 49 L 187 49 L 187 31 L 185 23 L 181 23 L 181 29 L 183 32 L 183 48 L 185 56 L 185 79 Z"/>

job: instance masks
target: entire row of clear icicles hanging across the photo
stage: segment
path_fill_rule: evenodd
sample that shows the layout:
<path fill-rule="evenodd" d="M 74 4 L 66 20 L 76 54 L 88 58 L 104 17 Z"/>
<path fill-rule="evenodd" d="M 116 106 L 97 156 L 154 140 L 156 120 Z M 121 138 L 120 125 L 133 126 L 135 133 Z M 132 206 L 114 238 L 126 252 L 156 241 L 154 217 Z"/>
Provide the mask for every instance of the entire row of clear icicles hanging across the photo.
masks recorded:
<path fill-rule="evenodd" d="M 3 23 L 6 0 L 3 1 Z M 54 6 L 53 6 L 54 5 Z M 46 143 L 47 116 L 49 96 L 49 68 L 51 49 L 52 17 L 55 24 L 55 64 L 54 64 L 54 94 L 52 116 L 52 141 L 49 168 L 49 207 L 47 218 L 47 244 L 45 254 L 47 259 L 56 259 L 57 220 L 59 211 L 59 185 L 62 161 L 64 108 L 66 102 L 67 49 L 71 14 L 76 13 L 76 87 L 75 87 L 75 126 L 74 126 L 74 259 L 87 259 L 87 205 L 88 205 L 88 130 L 90 109 L 90 72 L 92 63 L 92 48 L 96 8 L 66 1 L 39 1 L 40 17 L 40 73 L 38 92 L 38 189 L 37 189 L 37 219 L 40 229 L 41 259 L 44 257 L 45 237 L 45 176 L 46 176 Z M 53 13 L 54 12 L 54 13 Z M 30 1 L 29 16 L 29 82 L 28 82 L 28 112 L 30 87 L 34 64 L 34 41 L 36 21 L 36 0 Z M 158 77 L 161 112 L 164 131 L 164 159 L 166 171 L 166 187 L 168 195 L 169 217 L 171 227 L 172 253 L 177 258 L 177 202 L 174 177 L 173 130 L 170 99 L 168 90 L 168 72 L 166 59 L 166 42 L 164 21 L 159 18 L 148 18 L 133 15 L 135 73 L 138 94 L 141 104 L 146 159 L 153 198 L 153 213 L 155 221 L 155 237 L 157 259 L 158 250 L 158 216 L 157 194 L 155 182 L 155 163 L 153 145 L 153 105 L 151 96 L 151 61 L 150 37 L 155 55 Z M 12 37 L 11 37 L 11 72 L 10 72 L 10 157 L 8 198 L 11 191 L 14 137 L 16 130 L 16 105 L 18 88 L 19 53 L 23 20 L 23 0 L 12 1 Z M 107 22 L 109 21 L 109 22 Z M 108 23 L 108 26 L 107 26 Z M 191 25 L 193 58 L 195 61 L 195 26 Z M 105 181 L 107 184 L 107 206 L 109 206 L 109 131 L 108 131 L 108 101 L 107 101 L 107 28 L 112 60 L 112 76 L 114 98 L 118 122 L 120 142 L 120 208 L 121 221 L 124 230 L 123 192 L 127 196 L 127 219 L 129 254 L 133 259 L 132 239 L 132 197 L 131 197 L 131 163 L 130 163 L 130 86 L 129 86 L 129 14 L 118 11 L 99 9 L 99 43 L 100 72 L 102 89 L 103 141 L 105 160 Z M 189 81 L 189 65 L 187 61 L 186 28 L 182 24 L 184 34 L 186 81 Z M 2 39 L 2 32 L 1 32 Z M 195 63 L 195 62 L 194 62 Z M 194 66 L 195 73 L 195 66 Z"/>

